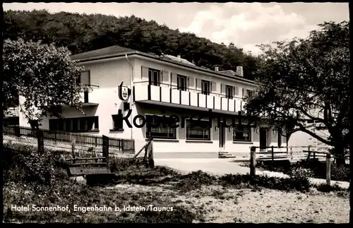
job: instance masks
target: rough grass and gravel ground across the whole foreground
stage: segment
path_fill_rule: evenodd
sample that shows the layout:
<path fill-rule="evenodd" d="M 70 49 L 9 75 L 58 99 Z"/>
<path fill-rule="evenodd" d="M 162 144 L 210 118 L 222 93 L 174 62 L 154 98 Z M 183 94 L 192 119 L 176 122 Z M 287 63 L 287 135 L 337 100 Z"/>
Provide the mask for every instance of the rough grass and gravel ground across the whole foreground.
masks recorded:
<path fill-rule="evenodd" d="M 61 168 L 59 152 L 39 156 L 31 148 L 13 152 L 9 147 L 13 145 L 4 145 L 4 222 L 349 221 L 349 191 L 312 186 L 301 177 L 180 174 L 112 158 L 113 176 L 78 181 Z M 16 211 L 11 205 L 68 205 L 70 211 Z M 74 211 L 75 205 L 105 205 L 112 211 Z M 124 206 L 148 210 L 124 210 Z"/>

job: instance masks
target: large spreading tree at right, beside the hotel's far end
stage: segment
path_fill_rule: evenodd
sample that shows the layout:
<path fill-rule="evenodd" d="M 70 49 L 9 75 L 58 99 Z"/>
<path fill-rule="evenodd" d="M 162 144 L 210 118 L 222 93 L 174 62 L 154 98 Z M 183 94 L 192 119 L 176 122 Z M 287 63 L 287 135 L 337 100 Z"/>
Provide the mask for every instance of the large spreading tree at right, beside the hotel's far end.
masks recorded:
<path fill-rule="evenodd" d="M 263 116 L 287 133 L 303 131 L 334 147 L 342 156 L 349 148 L 349 22 L 323 23 L 306 39 L 261 45 L 258 91 L 247 99 L 248 114 Z M 315 121 L 309 126 L 305 120 Z M 320 136 L 315 130 L 328 132 Z M 337 163 L 344 163 L 338 159 Z"/>

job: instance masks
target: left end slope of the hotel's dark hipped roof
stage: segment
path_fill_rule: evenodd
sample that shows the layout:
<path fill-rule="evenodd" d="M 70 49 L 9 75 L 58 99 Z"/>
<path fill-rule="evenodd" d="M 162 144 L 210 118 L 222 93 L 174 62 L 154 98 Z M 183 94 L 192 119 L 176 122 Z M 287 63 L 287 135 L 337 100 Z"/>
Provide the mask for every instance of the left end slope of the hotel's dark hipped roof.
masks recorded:
<path fill-rule="evenodd" d="M 115 46 L 111 46 L 111 47 L 105 47 L 102 49 L 93 50 L 90 52 L 73 54 L 71 56 L 71 59 L 73 59 L 73 60 L 90 59 L 90 58 L 106 56 L 106 55 L 110 55 L 110 54 L 122 54 L 122 53 L 130 53 L 130 52 L 136 52 L 136 50 L 115 45 Z"/>

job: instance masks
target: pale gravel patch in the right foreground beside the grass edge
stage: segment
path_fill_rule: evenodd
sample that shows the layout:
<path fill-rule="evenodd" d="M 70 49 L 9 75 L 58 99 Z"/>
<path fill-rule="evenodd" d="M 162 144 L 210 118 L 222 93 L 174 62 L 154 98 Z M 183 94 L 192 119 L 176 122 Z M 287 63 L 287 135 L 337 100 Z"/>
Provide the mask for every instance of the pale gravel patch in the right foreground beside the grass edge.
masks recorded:
<path fill-rule="evenodd" d="M 169 198 L 173 204 L 189 208 L 191 212 L 203 217 L 203 220 L 193 222 L 349 222 L 349 196 L 322 193 L 316 191 L 315 188 L 309 193 L 287 193 L 270 189 L 255 191 L 222 186 L 202 186 L 188 193 L 172 191 L 167 185 L 119 184 L 112 188 L 134 193 L 151 193 L 151 195 Z"/>

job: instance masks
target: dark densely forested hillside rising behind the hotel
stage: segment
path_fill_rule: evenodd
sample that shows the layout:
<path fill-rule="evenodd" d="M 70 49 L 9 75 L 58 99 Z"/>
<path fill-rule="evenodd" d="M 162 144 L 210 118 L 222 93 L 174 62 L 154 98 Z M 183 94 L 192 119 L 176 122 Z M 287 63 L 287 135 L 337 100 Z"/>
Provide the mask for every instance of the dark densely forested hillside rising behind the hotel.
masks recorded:
<path fill-rule="evenodd" d="M 255 56 L 244 54 L 234 44 L 217 44 L 136 16 L 6 11 L 3 36 L 11 40 L 22 37 L 47 44 L 54 42 L 56 46 L 68 47 L 73 54 L 112 45 L 155 54 L 181 54 L 182 58 L 207 68 L 219 66 L 220 70 L 236 71 L 237 66 L 243 66 L 248 79 L 253 79 L 258 64 Z"/>

